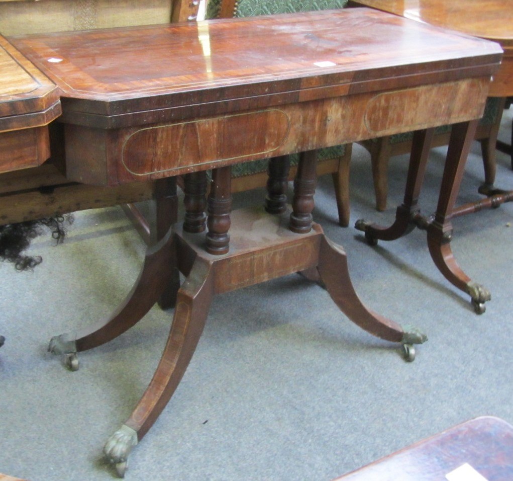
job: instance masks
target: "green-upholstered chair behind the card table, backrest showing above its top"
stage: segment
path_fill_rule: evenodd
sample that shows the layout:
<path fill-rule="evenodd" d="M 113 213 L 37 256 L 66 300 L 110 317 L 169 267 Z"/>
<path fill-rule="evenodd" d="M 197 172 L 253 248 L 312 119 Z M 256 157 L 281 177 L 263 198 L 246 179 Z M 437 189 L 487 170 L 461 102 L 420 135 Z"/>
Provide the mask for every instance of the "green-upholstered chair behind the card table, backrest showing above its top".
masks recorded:
<path fill-rule="evenodd" d="M 293 13 L 312 10 L 343 8 L 347 0 L 209 0 L 206 8 L 207 18 L 231 18 L 278 13 Z M 317 174 L 331 174 L 333 178 L 339 224 L 349 225 L 349 162 L 351 144 L 339 145 L 318 152 Z M 298 155 L 290 156 L 288 179 L 297 172 Z M 268 160 L 256 160 L 238 164 L 232 169 L 232 192 L 263 187 L 267 182 Z"/>

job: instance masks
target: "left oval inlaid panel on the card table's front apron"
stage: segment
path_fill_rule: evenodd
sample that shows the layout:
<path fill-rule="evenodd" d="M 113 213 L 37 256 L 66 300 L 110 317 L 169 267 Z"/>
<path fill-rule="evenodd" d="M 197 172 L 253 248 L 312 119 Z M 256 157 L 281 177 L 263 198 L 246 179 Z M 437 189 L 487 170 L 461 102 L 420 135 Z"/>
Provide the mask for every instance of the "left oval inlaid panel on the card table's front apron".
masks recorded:
<path fill-rule="evenodd" d="M 289 130 L 289 117 L 279 109 L 146 127 L 125 141 L 122 162 L 139 176 L 199 165 L 207 169 L 227 160 L 270 155 Z"/>

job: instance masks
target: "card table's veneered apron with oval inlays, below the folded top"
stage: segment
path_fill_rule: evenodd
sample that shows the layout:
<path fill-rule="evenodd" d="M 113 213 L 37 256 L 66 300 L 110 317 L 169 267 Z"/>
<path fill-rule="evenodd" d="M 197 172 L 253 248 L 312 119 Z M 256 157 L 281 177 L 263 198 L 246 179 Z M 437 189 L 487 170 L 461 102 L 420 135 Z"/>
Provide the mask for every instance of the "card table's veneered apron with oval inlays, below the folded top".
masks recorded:
<path fill-rule="evenodd" d="M 489 77 L 102 130 L 66 124 L 70 180 L 115 186 L 480 118 Z"/>

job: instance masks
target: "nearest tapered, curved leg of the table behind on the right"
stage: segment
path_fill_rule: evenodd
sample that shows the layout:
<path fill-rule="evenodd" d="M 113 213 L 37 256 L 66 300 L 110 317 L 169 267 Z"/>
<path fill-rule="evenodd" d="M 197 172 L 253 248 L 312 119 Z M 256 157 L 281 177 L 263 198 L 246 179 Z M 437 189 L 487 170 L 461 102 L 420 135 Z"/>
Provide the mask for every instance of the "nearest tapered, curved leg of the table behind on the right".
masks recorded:
<path fill-rule="evenodd" d="M 475 311 L 480 314 L 485 311 L 484 303 L 491 299 L 491 294 L 484 286 L 472 282 L 462 271 L 450 248 L 452 211 L 460 190 L 477 123 L 478 121 L 475 120 L 452 126 L 437 212 L 435 220 L 427 229 L 427 244 L 429 253 L 440 272 L 451 284 L 470 295 Z"/>

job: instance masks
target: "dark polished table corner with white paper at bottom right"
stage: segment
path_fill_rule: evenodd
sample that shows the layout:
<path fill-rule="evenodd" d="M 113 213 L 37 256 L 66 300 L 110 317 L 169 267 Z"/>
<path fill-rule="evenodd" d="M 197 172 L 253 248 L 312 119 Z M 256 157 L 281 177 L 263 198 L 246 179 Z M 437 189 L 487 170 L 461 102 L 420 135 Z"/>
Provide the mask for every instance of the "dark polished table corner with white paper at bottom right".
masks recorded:
<path fill-rule="evenodd" d="M 452 474 L 451 474 L 452 473 Z M 448 477 L 446 477 L 448 475 Z M 506 481 L 513 479 L 513 426 L 471 419 L 333 481 Z"/>

